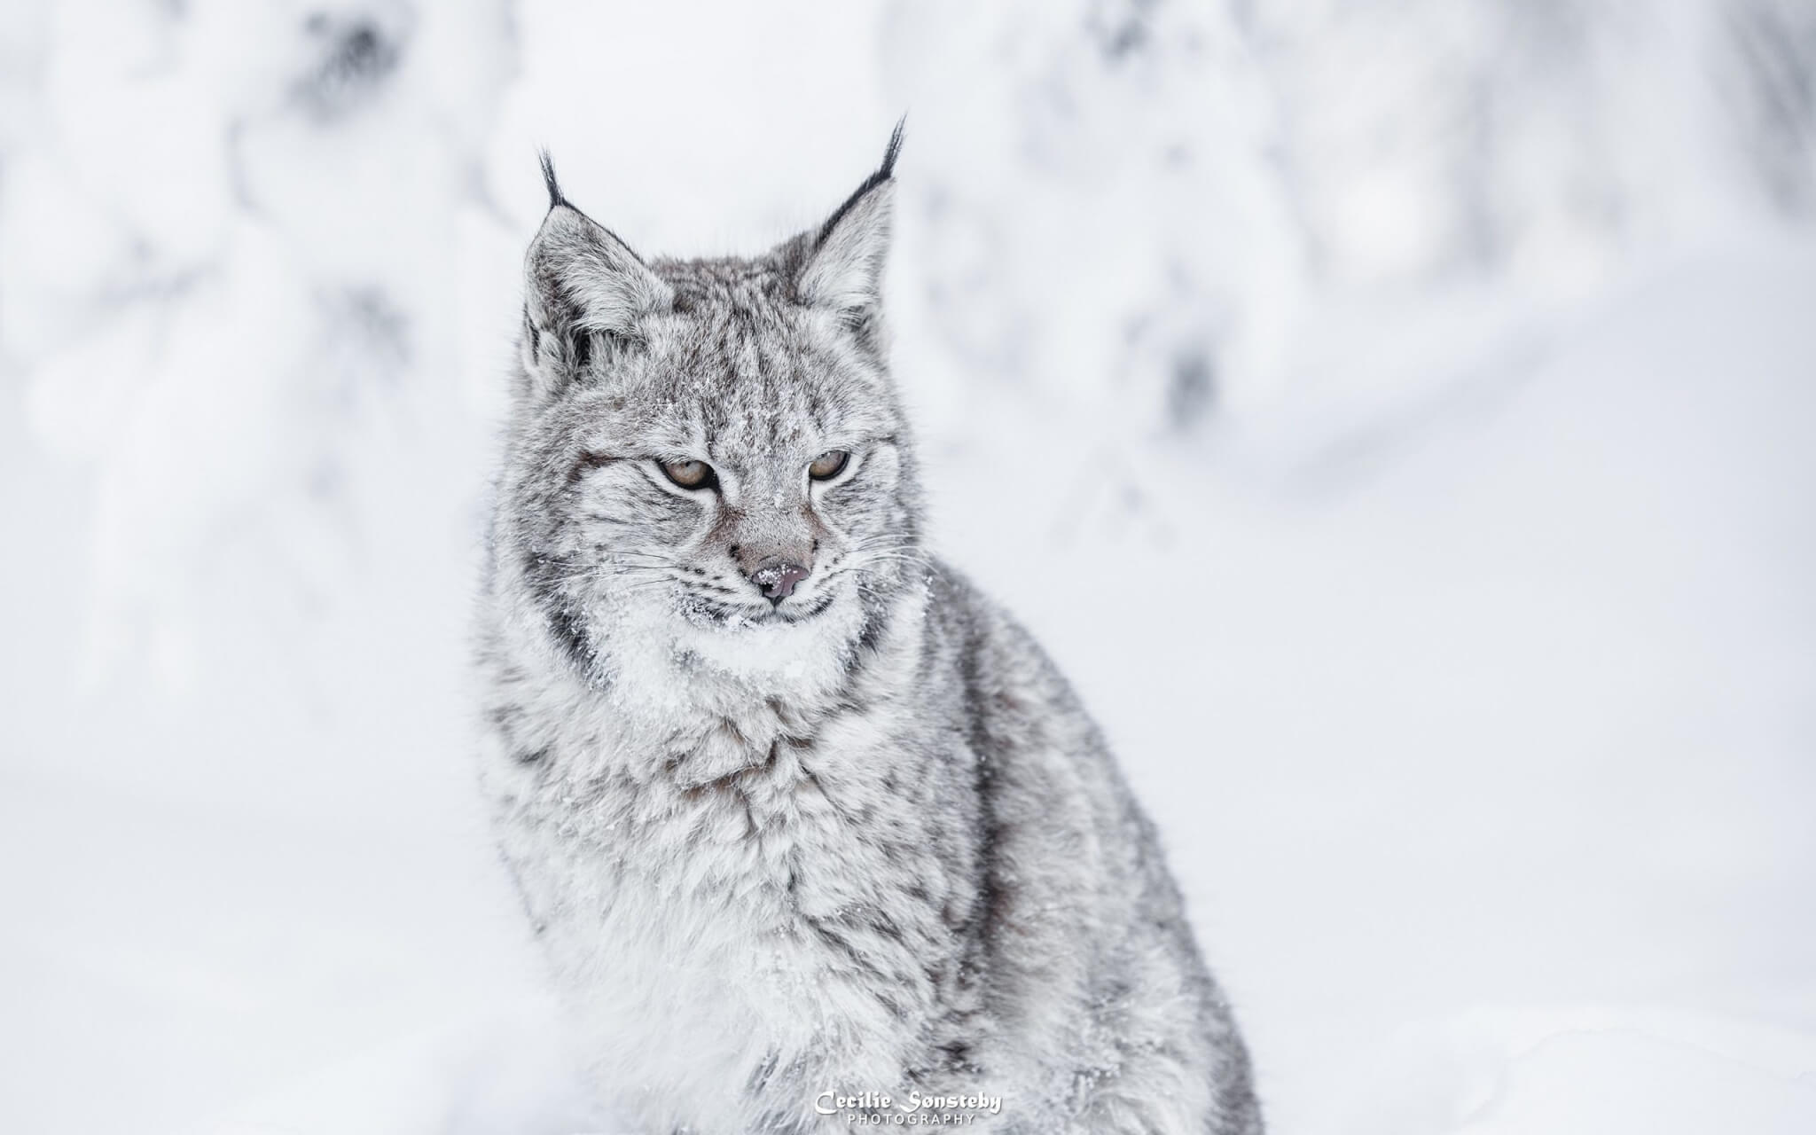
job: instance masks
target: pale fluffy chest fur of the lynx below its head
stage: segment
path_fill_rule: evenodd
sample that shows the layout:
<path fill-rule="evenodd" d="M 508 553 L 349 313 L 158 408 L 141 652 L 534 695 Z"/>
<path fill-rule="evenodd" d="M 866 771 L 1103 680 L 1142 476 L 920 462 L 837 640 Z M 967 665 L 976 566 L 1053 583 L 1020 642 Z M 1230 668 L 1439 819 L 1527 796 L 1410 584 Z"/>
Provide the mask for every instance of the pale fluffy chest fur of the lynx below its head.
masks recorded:
<path fill-rule="evenodd" d="M 959 955 L 935 755 L 886 716 L 770 714 L 523 785 L 507 857 L 614 1073 L 748 1084 L 832 1059 L 893 1082 Z"/>

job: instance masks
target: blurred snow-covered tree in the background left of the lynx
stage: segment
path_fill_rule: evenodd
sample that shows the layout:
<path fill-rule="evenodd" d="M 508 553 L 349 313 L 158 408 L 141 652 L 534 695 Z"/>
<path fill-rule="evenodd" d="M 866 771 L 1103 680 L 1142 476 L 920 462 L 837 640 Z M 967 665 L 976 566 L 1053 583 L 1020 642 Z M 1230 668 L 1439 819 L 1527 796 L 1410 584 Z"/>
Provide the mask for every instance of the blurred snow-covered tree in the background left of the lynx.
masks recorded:
<path fill-rule="evenodd" d="M 458 392 L 447 281 L 461 218 L 487 207 L 507 16 L 13 16 L 7 56 L 33 82 L 0 134 L 0 350 L 36 436 L 93 470 L 96 661 L 151 657 L 183 685 L 207 627 L 303 643 L 350 594 L 347 563 L 392 539 L 361 510 Z"/>

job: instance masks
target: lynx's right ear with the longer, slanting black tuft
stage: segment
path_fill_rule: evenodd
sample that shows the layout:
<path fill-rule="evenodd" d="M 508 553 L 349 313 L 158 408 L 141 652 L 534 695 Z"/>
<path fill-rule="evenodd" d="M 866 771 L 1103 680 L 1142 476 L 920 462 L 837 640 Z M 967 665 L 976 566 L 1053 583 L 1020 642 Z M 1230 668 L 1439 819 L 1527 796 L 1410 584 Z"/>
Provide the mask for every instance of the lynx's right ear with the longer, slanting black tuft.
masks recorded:
<path fill-rule="evenodd" d="M 854 327 L 881 314 L 883 265 L 890 252 L 895 198 L 895 154 L 903 123 L 895 123 L 883 165 L 839 205 L 808 245 L 795 276 L 795 294 L 810 307 L 841 312 Z"/>

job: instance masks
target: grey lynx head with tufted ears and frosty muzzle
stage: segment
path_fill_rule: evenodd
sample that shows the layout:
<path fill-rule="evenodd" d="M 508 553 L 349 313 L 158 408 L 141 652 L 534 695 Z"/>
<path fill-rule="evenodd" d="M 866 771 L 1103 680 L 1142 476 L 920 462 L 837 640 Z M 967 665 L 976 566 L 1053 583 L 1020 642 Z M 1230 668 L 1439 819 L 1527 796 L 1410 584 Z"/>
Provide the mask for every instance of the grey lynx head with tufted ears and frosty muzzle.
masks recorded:
<path fill-rule="evenodd" d="M 496 554 L 590 679 L 639 650 L 848 665 L 915 579 L 881 312 L 899 147 L 817 229 L 723 260 L 641 260 L 545 156 Z"/>

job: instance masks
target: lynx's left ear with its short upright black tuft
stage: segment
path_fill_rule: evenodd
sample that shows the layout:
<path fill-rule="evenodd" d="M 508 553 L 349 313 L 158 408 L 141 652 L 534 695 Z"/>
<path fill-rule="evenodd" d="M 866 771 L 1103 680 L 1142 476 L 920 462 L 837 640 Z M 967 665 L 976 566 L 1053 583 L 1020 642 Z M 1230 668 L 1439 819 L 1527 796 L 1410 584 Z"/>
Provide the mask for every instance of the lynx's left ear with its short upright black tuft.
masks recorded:
<path fill-rule="evenodd" d="M 588 372 L 601 347 L 641 338 L 641 318 L 666 311 L 674 289 L 561 196 L 547 153 L 543 180 L 548 216 L 523 258 L 523 354 L 547 394 Z"/>

